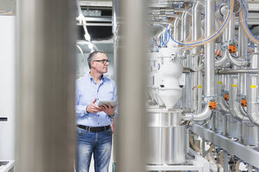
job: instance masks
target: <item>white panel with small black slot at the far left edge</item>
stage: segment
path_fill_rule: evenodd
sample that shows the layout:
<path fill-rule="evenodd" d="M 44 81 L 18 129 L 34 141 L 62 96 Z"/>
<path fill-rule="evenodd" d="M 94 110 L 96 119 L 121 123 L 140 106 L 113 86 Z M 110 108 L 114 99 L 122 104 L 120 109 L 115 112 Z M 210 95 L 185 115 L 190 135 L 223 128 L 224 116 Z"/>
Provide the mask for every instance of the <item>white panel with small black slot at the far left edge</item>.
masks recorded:
<path fill-rule="evenodd" d="M 0 16 L 0 160 L 15 159 L 15 17 Z"/>

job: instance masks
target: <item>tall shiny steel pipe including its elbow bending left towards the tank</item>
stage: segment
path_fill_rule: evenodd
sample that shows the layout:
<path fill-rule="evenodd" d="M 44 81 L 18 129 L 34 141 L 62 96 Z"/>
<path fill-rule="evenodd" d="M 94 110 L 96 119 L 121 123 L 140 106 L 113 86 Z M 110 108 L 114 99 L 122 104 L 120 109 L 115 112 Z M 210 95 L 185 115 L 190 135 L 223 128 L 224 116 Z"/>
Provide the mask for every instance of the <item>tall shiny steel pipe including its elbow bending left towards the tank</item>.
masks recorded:
<path fill-rule="evenodd" d="M 214 7 L 214 0 L 205 1 L 205 36 L 209 36 L 214 32 Z M 214 41 L 212 41 L 205 44 L 205 101 L 207 102 L 207 105 L 202 112 L 198 114 L 185 114 L 183 119 L 203 121 L 210 117 L 212 111 L 210 110 L 209 103 L 214 96 Z"/>

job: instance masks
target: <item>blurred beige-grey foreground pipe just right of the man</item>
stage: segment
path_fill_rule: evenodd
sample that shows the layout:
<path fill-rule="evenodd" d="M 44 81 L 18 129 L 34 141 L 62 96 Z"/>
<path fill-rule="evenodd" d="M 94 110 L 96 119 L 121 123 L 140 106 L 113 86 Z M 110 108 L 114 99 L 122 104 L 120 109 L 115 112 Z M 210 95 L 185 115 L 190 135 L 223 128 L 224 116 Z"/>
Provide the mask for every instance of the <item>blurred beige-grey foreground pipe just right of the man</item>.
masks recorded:
<path fill-rule="evenodd" d="M 122 0 L 122 46 L 118 54 L 118 171 L 145 171 L 146 1 Z M 134 110 L 134 112 L 132 112 Z M 137 119 L 137 120 L 136 120 Z"/>

